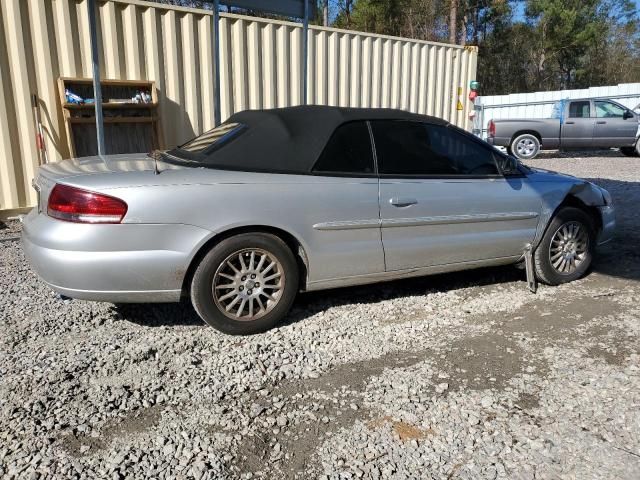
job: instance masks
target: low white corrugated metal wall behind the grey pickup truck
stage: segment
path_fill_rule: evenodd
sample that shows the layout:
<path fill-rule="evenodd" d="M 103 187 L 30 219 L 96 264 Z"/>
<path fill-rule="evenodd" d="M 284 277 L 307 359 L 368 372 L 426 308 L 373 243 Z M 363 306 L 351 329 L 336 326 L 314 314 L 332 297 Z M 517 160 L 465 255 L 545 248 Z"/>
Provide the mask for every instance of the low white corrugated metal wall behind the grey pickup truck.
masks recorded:
<path fill-rule="evenodd" d="M 610 98 L 633 109 L 640 104 L 640 83 L 479 97 L 476 105 L 481 109 L 480 114 L 476 116 L 474 131 L 479 134 L 482 129 L 482 138 L 486 138 L 487 123 L 491 119 L 549 118 L 553 104 L 565 98 Z"/>

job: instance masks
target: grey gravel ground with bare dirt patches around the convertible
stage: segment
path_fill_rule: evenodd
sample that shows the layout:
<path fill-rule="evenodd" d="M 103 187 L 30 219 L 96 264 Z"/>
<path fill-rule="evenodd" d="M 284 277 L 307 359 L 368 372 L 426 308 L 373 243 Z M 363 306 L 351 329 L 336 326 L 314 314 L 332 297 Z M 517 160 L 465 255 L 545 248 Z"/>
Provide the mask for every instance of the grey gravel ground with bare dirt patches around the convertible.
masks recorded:
<path fill-rule="evenodd" d="M 640 478 L 640 159 L 542 157 L 620 223 L 593 272 L 301 295 L 253 337 L 188 305 L 64 301 L 0 229 L 0 476 Z"/>

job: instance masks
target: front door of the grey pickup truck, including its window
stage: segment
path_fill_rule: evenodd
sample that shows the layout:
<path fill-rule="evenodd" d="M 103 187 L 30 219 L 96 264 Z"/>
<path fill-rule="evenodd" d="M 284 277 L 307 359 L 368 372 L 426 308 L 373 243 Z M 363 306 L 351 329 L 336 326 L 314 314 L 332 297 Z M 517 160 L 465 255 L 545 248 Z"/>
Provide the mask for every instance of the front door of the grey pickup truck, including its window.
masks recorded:
<path fill-rule="evenodd" d="M 596 128 L 593 135 L 595 147 L 625 147 L 633 145 L 638 133 L 636 116 L 617 103 L 595 100 Z M 630 116 L 625 113 L 629 112 Z"/>

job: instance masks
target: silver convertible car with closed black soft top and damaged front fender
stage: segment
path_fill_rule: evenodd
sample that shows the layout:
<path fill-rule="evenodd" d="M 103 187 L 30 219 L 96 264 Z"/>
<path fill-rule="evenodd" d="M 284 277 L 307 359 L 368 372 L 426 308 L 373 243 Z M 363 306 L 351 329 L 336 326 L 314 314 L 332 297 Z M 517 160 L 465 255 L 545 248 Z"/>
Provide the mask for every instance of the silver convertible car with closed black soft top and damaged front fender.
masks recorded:
<path fill-rule="evenodd" d="M 615 226 L 602 188 L 397 110 L 245 111 L 152 157 L 40 168 L 22 240 L 51 288 L 190 297 L 208 324 L 249 334 L 298 291 L 516 263 L 532 285 L 568 282 Z"/>

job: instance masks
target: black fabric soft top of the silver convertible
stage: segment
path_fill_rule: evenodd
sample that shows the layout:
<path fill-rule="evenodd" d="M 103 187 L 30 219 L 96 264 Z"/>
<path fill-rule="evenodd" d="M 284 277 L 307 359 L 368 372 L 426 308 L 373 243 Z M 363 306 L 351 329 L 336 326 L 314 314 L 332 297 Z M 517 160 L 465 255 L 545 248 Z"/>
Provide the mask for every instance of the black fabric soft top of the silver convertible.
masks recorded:
<path fill-rule="evenodd" d="M 208 168 L 308 174 L 343 123 L 358 120 L 413 120 L 447 125 L 442 119 L 387 108 L 344 108 L 320 105 L 245 110 L 224 124 L 244 126 L 212 151 L 193 154 L 180 147 L 169 152 Z M 171 161 L 171 159 L 169 159 Z"/>

